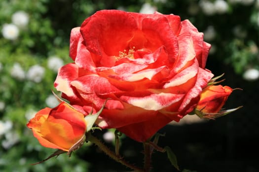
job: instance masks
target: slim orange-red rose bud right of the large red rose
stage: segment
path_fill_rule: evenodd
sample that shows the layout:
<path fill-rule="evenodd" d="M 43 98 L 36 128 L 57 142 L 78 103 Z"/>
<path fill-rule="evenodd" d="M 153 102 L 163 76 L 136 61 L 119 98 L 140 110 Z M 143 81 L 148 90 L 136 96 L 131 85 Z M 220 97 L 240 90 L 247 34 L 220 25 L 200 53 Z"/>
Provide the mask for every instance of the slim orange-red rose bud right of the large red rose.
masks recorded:
<path fill-rule="evenodd" d="M 203 113 L 218 113 L 232 92 L 229 86 L 208 86 L 201 92 L 197 110 Z"/>

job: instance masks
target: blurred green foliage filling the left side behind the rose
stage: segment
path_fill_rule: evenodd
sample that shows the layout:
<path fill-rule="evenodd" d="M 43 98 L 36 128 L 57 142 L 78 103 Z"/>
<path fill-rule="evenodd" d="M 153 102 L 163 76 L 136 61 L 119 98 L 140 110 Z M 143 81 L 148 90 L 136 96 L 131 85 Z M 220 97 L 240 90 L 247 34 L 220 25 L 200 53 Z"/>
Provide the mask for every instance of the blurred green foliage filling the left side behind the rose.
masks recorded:
<path fill-rule="evenodd" d="M 56 172 L 57 169 L 87 172 L 89 167 L 75 154 L 71 158 L 65 154 L 44 164 L 31 165 L 53 153 L 53 149 L 42 147 L 26 127 L 29 117 L 48 106 L 46 99 L 54 88 L 57 71 L 48 66 L 48 60 L 55 56 L 64 64 L 72 61 L 69 57 L 70 32 L 64 35 L 53 27 L 56 21 L 51 18 L 48 5 L 49 0 L 2 0 L 0 4 L 0 30 L 4 24 L 12 23 L 16 11 L 25 11 L 29 16 L 28 25 L 19 28 L 17 39 L 5 39 L 2 32 L 0 35 L 1 172 Z M 73 27 L 69 26 L 67 30 Z M 14 70 L 14 64 L 19 64 L 21 70 Z M 44 71 L 39 82 L 34 80 L 37 75 L 29 77 L 29 70 L 35 65 Z M 1 125 L 7 121 L 11 121 L 11 128 L 4 129 Z"/>

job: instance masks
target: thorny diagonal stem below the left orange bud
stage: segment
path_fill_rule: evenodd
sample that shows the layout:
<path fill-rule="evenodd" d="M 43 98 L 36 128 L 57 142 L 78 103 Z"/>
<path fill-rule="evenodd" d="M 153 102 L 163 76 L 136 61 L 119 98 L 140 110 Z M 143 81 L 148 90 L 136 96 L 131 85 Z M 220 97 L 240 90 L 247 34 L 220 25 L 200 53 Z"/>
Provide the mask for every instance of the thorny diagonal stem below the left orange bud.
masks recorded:
<path fill-rule="evenodd" d="M 104 151 L 108 156 L 110 156 L 113 160 L 119 162 L 120 164 L 134 170 L 134 172 L 145 172 L 143 169 L 140 169 L 132 164 L 126 162 L 121 156 L 116 155 L 112 152 L 106 145 L 104 145 L 100 140 L 96 137 L 92 136 L 90 132 L 86 133 L 86 140 L 96 144 L 102 151 Z"/>

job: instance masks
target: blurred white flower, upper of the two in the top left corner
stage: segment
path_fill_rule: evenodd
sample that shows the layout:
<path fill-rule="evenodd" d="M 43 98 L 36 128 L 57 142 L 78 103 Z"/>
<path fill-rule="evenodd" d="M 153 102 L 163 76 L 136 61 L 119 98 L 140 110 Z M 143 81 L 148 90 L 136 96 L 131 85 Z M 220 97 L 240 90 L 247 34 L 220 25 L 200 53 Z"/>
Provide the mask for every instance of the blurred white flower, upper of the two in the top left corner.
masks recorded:
<path fill-rule="evenodd" d="M 29 16 L 24 11 L 17 11 L 12 15 L 12 23 L 19 28 L 24 28 L 29 23 Z"/>

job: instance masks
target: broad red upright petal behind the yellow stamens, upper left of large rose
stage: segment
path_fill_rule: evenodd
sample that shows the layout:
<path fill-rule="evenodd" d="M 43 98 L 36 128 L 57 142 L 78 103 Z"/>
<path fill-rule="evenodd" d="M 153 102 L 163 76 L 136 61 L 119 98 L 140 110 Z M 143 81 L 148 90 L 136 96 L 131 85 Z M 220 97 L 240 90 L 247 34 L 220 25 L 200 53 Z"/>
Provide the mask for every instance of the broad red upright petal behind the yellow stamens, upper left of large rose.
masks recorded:
<path fill-rule="evenodd" d="M 119 51 L 127 49 L 127 40 L 136 30 L 134 17 L 119 10 L 98 11 L 85 20 L 80 29 L 86 48 L 100 56 L 119 55 Z"/>

